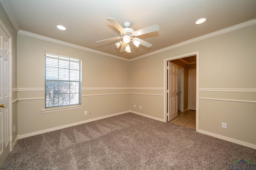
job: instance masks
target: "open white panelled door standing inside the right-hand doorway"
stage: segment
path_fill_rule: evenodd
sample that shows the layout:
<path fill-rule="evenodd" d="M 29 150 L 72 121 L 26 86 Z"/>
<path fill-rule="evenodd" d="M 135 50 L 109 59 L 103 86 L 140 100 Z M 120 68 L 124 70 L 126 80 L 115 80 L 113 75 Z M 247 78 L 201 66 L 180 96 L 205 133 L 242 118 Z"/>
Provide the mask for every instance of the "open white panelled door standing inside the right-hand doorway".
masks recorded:
<path fill-rule="evenodd" d="M 168 61 L 167 120 L 178 117 L 178 65 Z"/>

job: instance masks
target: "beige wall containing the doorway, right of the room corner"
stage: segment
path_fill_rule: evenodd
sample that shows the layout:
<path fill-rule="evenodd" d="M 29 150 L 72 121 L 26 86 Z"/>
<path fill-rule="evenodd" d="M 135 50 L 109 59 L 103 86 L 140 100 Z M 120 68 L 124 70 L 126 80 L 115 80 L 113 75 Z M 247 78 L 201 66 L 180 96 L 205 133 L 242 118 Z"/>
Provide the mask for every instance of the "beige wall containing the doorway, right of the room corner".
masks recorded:
<path fill-rule="evenodd" d="M 255 47 L 256 24 L 134 60 L 130 87 L 164 87 L 164 59 L 199 51 L 199 130 L 256 145 Z M 163 118 L 164 96 L 140 93 L 141 112 Z"/>

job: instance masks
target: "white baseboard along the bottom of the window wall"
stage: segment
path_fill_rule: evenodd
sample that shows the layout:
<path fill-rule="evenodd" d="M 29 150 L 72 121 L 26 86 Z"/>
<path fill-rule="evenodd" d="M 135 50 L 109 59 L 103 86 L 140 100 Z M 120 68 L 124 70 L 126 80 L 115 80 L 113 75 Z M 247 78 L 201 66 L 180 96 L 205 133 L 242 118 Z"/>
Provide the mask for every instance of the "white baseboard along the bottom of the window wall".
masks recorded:
<path fill-rule="evenodd" d="M 102 117 L 97 117 L 97 118 L 93 118 L 93 119 L 79 121 L 79 122 L 76 122 L 76 123 L 70 123 L 68 125 L 62 125 L 62 126 L 53 127 L 53 128 L 50 128 L 50 129 L 45 129 L 45 130 L 41 130 L 41 131 L 27 133 L 27 134 L 24 134 L 24 135 L 19 135 L 18 139 L 22 139 L 22 138 L 25 138 L 25 137 L 31 137 L 31 136 L 34 136 L 34 135 L 39 135 L 39 134 L 47 133 L 47 132 L 51 132 L 51 131 L 56 131 L 56 130 L 59 130 L 59 129 L 64 129 L 66 127 L 72 127 L 72 126 L 80 125 L 80 124 L 83 124 L 83 123 L 88 123 L 88 122 L 91 122 L 91 121 L 105 119 L 105 118 L 108 118 L 108 117 L 112 117 L 112 116 L 116 116 L 116 115 L 121 115 L 121 114 L 129 113 L 129 112 L 130 111 L 123 111 L 123 112 L 120 112 L 120 113 L 114 113 L 112 115 L 106 115 L 106 116 L 102 116 Z"/>

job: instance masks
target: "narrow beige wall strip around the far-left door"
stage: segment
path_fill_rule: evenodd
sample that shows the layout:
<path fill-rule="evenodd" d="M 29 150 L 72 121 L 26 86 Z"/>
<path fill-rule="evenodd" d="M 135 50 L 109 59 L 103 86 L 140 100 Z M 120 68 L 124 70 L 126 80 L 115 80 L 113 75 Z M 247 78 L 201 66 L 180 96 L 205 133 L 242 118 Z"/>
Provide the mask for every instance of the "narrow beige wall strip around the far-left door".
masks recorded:
<path fill-rule="evenodd" d="M 0 20 L 12 36 L 12 127 L 16 127 L 16 131 L 12 130 L 12 139 L 18 136 L 18 120 L 17 120 L 17 33 L 9 20 L 4 8 L 0 4 Z M 16 101 L 16 102 L 15 102 Z"/>

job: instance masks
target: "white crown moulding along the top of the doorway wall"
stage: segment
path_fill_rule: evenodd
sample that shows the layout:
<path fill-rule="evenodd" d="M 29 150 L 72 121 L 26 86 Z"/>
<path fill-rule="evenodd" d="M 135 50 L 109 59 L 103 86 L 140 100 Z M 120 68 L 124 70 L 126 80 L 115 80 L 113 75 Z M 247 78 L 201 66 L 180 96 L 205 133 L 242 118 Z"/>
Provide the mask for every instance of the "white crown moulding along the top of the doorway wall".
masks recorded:
<path fill-rule="evenodd" d="M 228 28 L 224 28 L 224 29 L 221 29 L 219 31 L 215 31 L 213 33 L 209 33 L 209 34 L 206 34 L 206 35 L 202 35 L 200 37 L 196 37 L 196 38 L 193 38 L 193 39 L 190 39 L 188 41 L 184 41 L 182 43 L 178 43 L 178 44 L 175 44 L 175 45 L 172 45 L 172 46 L 169 46 L 169 47 L 166 47 L 166 48 L 163 48 L 163 49 L 160 49 L 160 50 L 157 50 L 157 51 L 153 51 L 151 53 L 148 53 L 148 54 L 145 54 L 145 55 L 141 55 L 139 57 L 135 57 L 133 59 L 130 59 L 130 61 L 134 61 L 134 60 L 138 60 L 138 59 L 142 59 L 144 57 L 148 57 L 150 55 L 154 55 L 154 54 L 157 54 L 157 53 L 162 53 L 164 51 L 168 51 L 170 49 L 174 49 L 176 47 L 181 47 L 183 45 L 187 45 L 187 44 L 190 44 L 190 43 L 194 43 L 196 41 L 200 41 L 200 40 L 203 40 L 203 39 L 207 39 L 207 38 L 210 38 L 210 37 L 214 37 L 214 36 L 217 36 L 217 35 L 220 35 L 220 34 L 223 34 L 223 33 L 227 33 L 227 32 L 230 32 L 230 31 L 234 31 L 236 29 L 240 29 L 240 28 L 243 28 L 243 27 L 247 27 L 247 26 L 250 26 L 250 25 L 253 25 L 253 24 L 256 24 L 256 20 L 253 19 L 253 20 L 250 20 L 250 21 L 246 21 L 246 22 L 243 22 L 243 23 L 240 23 L 240 24 L 237 24 L 237 25 L 234 25 L 234 26 L 231 26 L 231 27 L 228 27 Z"/>

